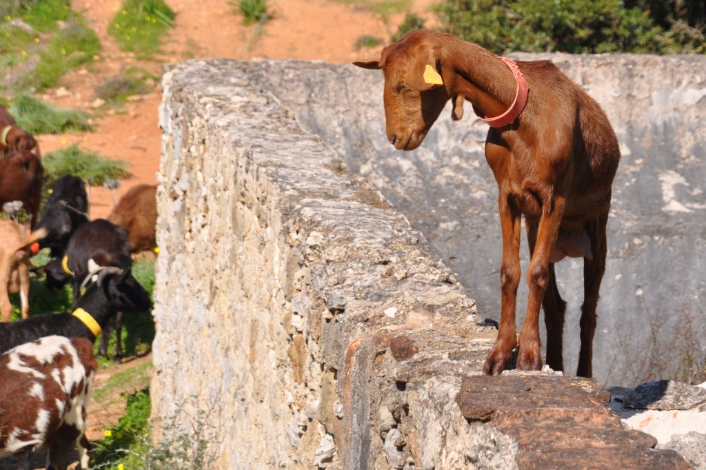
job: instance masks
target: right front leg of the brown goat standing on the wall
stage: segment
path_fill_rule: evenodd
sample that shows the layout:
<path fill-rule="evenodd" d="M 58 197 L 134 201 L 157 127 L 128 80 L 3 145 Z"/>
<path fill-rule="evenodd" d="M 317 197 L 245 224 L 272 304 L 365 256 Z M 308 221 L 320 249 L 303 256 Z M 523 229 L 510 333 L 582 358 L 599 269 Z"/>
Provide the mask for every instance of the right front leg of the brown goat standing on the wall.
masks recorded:
<path fill-rule="evenodd" d="M 539 309 L 542 308 L 544 293 L 551 282 L 549 258 L 556 243 L 556 236 L 564 212 L 564 198 L 554 195 L 553 200 L 543 205 L 542 217 L 537 227 L 537 240 L 534 253 L 527 269 L 527 285 L 530 294 L 527 299 L 527 315 L 520 330 L 520 352 L 517 354 L 517 368 L 539 370 L 542 368 L 542 343 L 539 341 Z"/>

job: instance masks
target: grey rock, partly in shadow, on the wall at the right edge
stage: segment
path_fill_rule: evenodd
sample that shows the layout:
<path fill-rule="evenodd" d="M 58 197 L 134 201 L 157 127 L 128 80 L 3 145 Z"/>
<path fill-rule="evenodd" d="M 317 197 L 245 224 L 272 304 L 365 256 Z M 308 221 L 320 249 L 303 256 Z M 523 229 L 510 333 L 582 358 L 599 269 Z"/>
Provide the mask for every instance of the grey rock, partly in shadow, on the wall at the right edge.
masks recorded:
<path fill-rule="evenodd" d="M 674 380 L 655 380 L 638 385 L 624 401 L 628 408 L 665 411 L 693 409 L 702 403 L 706 403 L 706 389 Z"/>

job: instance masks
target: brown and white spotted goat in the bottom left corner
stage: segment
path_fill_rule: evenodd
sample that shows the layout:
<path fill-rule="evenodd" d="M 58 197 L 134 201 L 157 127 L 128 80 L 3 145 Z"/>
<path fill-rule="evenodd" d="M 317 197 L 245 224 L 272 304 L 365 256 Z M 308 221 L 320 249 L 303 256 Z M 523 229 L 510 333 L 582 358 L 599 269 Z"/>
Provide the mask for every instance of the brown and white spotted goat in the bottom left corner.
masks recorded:
<path fill-rule="evenodd" d="M 97 363 L 88 339 L 47 336 L 0 356 L 0 457 L 49 448 L 47 469 L 66 469 L 73 446 L 90 464 L 87 406 Z"/>

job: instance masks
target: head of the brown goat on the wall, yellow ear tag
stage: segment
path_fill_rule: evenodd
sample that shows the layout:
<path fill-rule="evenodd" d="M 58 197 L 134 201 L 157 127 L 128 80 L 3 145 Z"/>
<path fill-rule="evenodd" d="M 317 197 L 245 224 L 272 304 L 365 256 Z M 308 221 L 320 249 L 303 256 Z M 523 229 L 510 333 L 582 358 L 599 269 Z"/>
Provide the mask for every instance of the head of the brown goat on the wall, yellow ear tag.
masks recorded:
<path fill-rule="evenodd" d="M 383 70 L 385 131 L 398 150 L 414 150 L 441 114 L 450 95 L 442 83 L 438 51 L 424 31 L 409 32 L 383 49 L 380 59 L 357 61 Z"/>

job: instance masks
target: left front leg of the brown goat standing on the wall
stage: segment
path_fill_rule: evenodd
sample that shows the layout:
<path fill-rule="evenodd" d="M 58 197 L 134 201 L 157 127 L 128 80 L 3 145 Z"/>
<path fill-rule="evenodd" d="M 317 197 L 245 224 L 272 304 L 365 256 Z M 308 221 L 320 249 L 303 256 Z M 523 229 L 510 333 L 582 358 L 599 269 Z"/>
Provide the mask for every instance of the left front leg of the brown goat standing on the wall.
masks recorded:
<path fill-rule="evenodd" d="M 500 268 L 501 310 L 498 338 L 486 358 L 483 372 L 498 375 L 510 366 L 513 349 L 517 346 L 515 307 L 517 286 L 520 285 L 520 211 L 508 203 L 508 195 L 498 198 L 500 224 L 503 231 L 503 262 Z"/>

